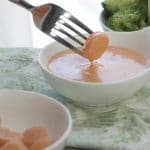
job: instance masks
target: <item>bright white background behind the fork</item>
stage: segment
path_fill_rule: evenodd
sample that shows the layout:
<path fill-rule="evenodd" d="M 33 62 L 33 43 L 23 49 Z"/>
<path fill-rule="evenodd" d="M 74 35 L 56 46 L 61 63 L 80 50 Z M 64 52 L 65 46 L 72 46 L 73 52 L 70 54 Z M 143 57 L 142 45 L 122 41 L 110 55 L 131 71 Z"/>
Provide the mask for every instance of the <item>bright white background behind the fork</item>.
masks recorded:
<path fill-rule="evenodd" d="M 56 3 L 63 6 L 93 31 L 100 31 L 101 0 L 26 0 L 33 5 Z M 32 15 L 8 0 L 0 0 L 0 47 L 44 47 L 52 39 L 39 31 Z"/>

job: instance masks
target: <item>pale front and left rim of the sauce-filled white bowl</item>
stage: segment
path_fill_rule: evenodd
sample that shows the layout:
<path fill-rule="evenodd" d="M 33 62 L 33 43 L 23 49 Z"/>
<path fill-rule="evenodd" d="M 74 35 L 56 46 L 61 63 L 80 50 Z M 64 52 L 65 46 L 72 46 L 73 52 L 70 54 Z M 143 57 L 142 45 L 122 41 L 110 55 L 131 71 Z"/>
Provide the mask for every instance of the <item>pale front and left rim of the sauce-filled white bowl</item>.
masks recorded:
<path fill-rule="evenodd" d="M 135 31 L 135 32 L 138 32 L 138 31 Z M 107 32 L 105 32 L 107 33 Z M 50 43 L 48 46 L 52 45 L 52 44 L 57 44 L 56 41 Z M 79 81 L 79 80 L 73 80 L 73 79 L 67 79 L 63 76 L 59 76 L 59 75 L 56 75 L 56 74 L 53 74 L 50 70 L 48 70 L 48 68 L 46 68 L 46 66 L 44 65 L 44 63 L 42 62 L 42 55 L 44 54 L 45 51 L 48 51 L 48 46 L 41 49 L 40 50 L 40 53 L 39 53 L 39 64 L 40 64 L 40 67 L 46 71 L 49 75 L 55 77 L 55 78 L 58 78 L 58 79 L 61 79 L 63 81 L 66 81 L 66 82 L 70 82 L 70 83 L 74 83 L 74 84 L 82 84 L 82 85 L 89 85 L 89 86 L 108 86 L 108 85 L 117 85 L 117 84 L 123 84 L 123 83 L 126 83 L 126 82 L 129 82 L 129 81 L 132 81 L 134 79 L 137 79 L 137 78 L 140 78 L 141 76 L 144 76 L 148 73 L 150 73 L 150 66 L 148 68 L 146 68 L 145 70 L 135 74 L 134 76 L 132 77 L 129 77 L 125 80 L 117 80 L 117 81 L 110 81 L 110 82 L 85 82 L 85 81 Z M 57 53 L 57 52 L 56 52 Z M 47 65 L 47 64 L 46 64 Z"/>

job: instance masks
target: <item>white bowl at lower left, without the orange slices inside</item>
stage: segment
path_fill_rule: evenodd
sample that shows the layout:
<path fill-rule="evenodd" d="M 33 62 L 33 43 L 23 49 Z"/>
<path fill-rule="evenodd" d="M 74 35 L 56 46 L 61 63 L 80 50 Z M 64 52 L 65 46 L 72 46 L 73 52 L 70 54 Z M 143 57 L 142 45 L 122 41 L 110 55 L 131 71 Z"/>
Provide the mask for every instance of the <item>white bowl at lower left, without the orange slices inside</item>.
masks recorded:
<path fill-rule="evenodd" d="M 0 118 L 3 127 L 23 132 L 45 127 L 54 143 L 46 150 L 63 150 L 71 131 L 69 111 L 56 100 L 33 92 L 0 90 Z"/>

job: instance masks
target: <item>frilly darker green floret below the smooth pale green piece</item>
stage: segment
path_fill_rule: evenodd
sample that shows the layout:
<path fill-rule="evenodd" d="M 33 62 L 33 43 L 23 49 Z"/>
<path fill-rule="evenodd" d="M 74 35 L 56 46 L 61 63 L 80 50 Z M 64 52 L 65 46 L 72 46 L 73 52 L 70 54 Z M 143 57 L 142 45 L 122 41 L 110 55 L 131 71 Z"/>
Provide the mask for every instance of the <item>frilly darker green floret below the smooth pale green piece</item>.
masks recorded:
<path fill-rule="evenodd" d="M 146 13 L 146 6 L 134 6 L 120 9 L 109 17 L 106 24 L 116 31 L 139 30 L 147 25 Z"/>

